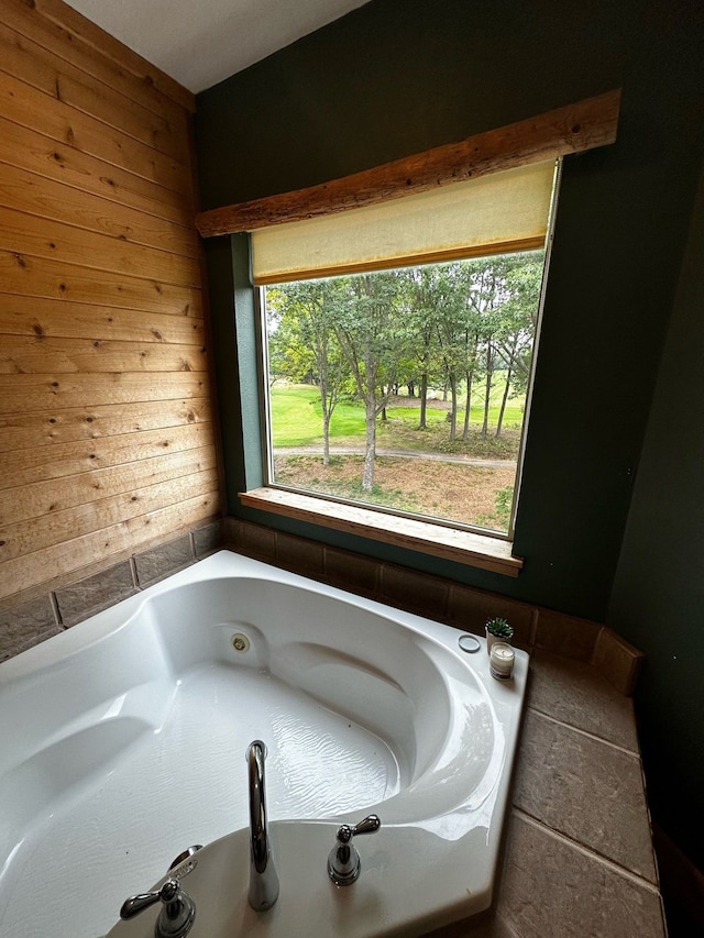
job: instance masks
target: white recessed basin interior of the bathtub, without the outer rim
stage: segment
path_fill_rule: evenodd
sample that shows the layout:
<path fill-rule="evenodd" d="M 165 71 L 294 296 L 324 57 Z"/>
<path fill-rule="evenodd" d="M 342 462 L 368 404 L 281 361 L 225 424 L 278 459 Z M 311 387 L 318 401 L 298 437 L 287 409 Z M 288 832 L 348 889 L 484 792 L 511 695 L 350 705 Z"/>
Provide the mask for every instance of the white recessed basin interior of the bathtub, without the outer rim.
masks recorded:
<path fill-rule="evenodd" d="M 147 591 L 0 669 L 21 728 L 0 752 L 1 934 L 96 938 L 182 849 L 244 828 L 254 738 L 273 820 L 441 830 L 493 804 L 504 733 L 457 632 L 254 566 Z"/>

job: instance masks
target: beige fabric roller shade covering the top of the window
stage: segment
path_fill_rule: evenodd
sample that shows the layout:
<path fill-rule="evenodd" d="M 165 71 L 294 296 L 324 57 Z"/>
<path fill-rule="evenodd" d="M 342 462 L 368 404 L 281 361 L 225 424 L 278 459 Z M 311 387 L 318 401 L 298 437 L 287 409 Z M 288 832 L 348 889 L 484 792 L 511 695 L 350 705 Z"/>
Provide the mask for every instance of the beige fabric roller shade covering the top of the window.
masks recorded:
<path fill-rule="evenodd" d="M 252 232 L 256 284 L 542 247 L 553 159 Z"/>

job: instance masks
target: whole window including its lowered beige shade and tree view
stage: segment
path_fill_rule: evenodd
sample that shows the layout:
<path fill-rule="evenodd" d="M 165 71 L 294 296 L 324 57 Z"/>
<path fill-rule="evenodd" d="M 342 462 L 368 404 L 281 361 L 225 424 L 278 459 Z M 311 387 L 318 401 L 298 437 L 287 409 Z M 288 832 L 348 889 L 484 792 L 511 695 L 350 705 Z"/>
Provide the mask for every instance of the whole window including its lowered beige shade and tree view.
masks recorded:
<path fill-rule="evenodd" d="M 554 179 L 255 233 L 268 485 L 510 537 Z"/>

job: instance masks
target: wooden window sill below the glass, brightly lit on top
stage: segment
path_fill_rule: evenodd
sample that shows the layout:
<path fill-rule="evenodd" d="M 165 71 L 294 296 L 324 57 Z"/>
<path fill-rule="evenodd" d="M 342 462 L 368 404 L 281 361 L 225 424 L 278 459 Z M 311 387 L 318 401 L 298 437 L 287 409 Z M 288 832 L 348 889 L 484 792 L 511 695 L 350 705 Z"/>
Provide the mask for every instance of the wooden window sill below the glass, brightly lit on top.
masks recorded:
<path fill-rule="evenodd" d="M 322 525 L 505 576 L 518 576 L 522 567 L 522 560 L 512 554 L 513 544 L 509 541 L 446 528 L 431 521 L 402 518 L 372 508 L 328 501 L 280 488 L 263 487 L 243 492 L 240 493 L 240 500 L 248 508 Z"/>

